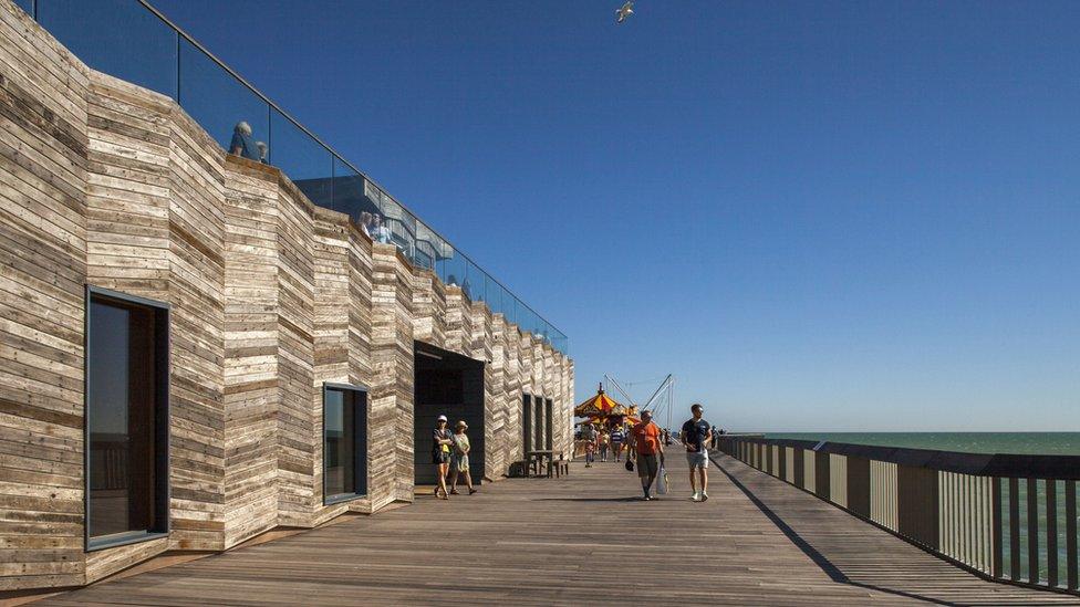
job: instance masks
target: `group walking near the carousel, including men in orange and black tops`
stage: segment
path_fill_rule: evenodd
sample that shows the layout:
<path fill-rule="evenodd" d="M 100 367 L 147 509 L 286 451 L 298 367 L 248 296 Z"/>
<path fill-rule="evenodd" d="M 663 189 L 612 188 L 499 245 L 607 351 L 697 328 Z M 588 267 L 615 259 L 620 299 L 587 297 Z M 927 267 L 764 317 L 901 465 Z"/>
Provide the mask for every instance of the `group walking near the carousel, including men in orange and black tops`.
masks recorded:
<path fill-rule="evenodd" d="M 695 502 L 708 500 L 708 452 L 709 447 L 715 448 L 716 427 L 705 421 L 704 414 L 705 408 L 700 404 L 694 404 L 690 407 L 690 419 L 683 423 L 678 433 L 678 441 L 686 451 L 686 463 L 690 469 L 690 500 Z M 656 426 L 652 411 L 643 411 L 641 423 L 632 427 L 629 432 L 620 426 L 609 432 L 603 428 L 596 430 L 591 423 L 586 423 L 582 428 L 581 439 L 585 441 L 586 468 L 596 461 L 596 451 L 600 452 L 601 461 L 608 461 L 609 450 L 613 451 L 615 461 L 620 461 L 625 449 L 626 459 L 636 463 L 642 499 L 655 499 L 653 485 L 664 467 L 664 446 L 671 446 L 672 438 L 667 430 Z"/>

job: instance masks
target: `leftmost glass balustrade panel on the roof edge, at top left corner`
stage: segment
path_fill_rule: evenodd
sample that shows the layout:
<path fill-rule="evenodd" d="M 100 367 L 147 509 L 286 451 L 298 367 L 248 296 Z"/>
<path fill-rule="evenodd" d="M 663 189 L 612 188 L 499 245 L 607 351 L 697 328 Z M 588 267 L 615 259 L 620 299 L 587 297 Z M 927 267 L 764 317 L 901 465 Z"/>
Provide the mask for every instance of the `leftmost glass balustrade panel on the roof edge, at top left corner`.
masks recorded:
<path fill-rule="evenodd" d="M 33 14 L 30 1 L 20 2 Z M 38 0 L 38 22 L 86 65 L 176 98 L 177 33 L 132 0 Z"/>

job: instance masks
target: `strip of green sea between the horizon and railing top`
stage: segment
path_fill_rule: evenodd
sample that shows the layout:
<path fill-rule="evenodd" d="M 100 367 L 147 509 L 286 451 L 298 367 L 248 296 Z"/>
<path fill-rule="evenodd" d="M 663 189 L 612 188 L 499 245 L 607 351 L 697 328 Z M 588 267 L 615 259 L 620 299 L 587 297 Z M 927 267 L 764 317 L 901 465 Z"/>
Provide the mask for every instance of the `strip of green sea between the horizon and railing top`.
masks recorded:
<path fill-rule="evenodd" d="M 967 453 L 1080 456 L 1080 432 L 766 432 L 765 437 Z"/>

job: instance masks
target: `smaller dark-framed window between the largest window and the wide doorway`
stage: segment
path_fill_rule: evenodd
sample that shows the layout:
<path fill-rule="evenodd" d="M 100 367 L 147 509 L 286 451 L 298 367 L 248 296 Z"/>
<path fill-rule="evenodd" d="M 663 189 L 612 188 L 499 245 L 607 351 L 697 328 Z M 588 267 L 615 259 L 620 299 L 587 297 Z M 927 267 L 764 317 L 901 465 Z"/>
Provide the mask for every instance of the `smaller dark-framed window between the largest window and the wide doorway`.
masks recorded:
<path fill-rule="evenodd" d="M 367 493 L 367 389 L 325 384 L 323 404 L 323 503 Z"/>

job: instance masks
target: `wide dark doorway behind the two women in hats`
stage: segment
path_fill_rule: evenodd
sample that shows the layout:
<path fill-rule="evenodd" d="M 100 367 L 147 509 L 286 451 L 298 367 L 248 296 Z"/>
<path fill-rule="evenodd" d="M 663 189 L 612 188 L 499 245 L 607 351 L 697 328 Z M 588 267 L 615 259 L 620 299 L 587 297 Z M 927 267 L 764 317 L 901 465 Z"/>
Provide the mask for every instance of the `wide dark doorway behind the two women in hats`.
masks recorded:
<path fill-rule="evenodd" d="M 413 356 L 414 482 L 438 482 L 432 432 L 435 419 L 444 415 L 451 430 L 458 420 L 469 426 L 469 472 L 478 484 L 484 478 L 484 363 L 422 342 L 414 343 Z"/>

